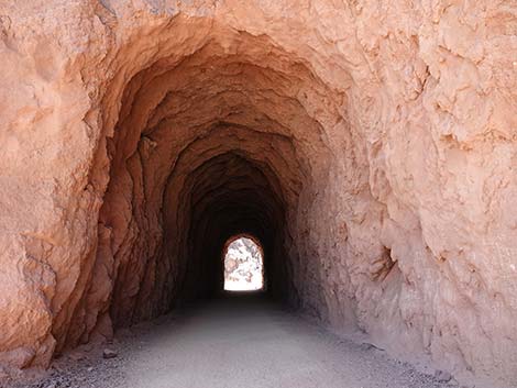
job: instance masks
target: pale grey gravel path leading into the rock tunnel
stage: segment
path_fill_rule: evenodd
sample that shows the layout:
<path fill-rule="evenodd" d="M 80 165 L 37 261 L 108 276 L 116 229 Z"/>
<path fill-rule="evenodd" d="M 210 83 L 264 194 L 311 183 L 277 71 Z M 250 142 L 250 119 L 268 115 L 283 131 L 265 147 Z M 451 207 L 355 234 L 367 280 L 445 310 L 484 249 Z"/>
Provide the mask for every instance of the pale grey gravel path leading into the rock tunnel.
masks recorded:
<path fill-rule="evenodd" d="M 106 347 L 106 346 L 105 346 Z M 32 383 L 6 387 L 405 388 L 439 383 L 369 344 L 340 339 L 256 296 L 198 304 L 86 346 Z"/>

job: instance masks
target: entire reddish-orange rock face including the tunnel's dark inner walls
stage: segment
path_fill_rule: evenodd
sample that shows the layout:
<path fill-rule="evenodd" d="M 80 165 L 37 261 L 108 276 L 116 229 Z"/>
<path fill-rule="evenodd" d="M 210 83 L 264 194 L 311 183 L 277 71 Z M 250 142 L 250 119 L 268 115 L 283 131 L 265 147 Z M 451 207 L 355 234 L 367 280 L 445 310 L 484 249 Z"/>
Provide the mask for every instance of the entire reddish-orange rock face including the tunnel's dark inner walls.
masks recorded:
<path fill-rule="evenodd" d="M 514 1 L 0 3 L 0 359 L 222 287 L 517 384 Z"/>

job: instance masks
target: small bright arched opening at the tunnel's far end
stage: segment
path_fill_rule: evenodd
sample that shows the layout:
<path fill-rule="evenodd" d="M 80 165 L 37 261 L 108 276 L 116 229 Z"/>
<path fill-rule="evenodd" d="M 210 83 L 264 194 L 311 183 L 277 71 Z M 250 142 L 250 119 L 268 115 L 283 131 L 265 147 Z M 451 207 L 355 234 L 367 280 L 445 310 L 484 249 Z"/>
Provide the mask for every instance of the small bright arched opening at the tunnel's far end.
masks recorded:
<path fill-rule="evenodd" d="M 264 288 L 264 259 L 258 242 L 234 236 L 224 245 L 224 290 L 257 291 Z"/>

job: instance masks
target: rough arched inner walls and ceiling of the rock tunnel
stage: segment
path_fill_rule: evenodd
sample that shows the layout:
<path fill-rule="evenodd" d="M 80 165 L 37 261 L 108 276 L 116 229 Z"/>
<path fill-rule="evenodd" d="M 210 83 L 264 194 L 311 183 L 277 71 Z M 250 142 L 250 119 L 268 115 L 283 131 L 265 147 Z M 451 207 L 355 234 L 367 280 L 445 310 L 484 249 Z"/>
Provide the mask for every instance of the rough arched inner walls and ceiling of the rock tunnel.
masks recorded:
<path fill-rule="evenodd" d="M 188 36 L 173 33 L 186 26 Z M 369 262 L 377 273 L 391 258 L 377 259 L 381 242 L 355 264 L 338 255 L 350 228 L 358 240 L 375 234 L 383 210 L 345 88 L 266 35 L 182 16 L 162 33 L 154 56 L 139 36 L 128 42 L 106 86 L 89 174 L 102 195 L 95 266 L 77 308 L 55 320 L 56 351 L 215 295 L 223 271 L 210 258 L 237 233 L 263 243 L 270 297 L 355 328 L 348 266 L 370 281 Z"/>

